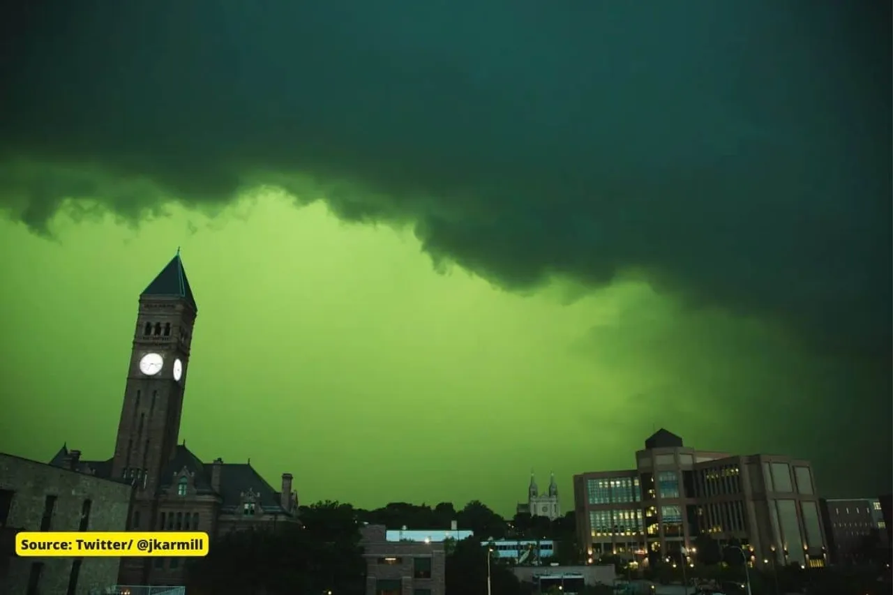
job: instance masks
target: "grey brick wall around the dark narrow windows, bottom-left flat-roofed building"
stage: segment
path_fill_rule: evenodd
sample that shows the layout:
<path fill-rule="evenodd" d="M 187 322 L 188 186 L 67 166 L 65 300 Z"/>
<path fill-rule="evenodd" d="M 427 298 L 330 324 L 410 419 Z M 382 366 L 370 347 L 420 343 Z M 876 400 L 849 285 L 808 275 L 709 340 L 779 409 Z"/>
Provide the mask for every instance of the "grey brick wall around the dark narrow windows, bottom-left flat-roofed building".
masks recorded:
<path fill-rule="evenodd" d="M 88 531 L 124 531 L 127 525 L 129 486 L 92 475 L 0 454 L 0 490 L 14 492 L 7 526 L 15 529 L 40 529 L 47 496 L 57 498 L 51 531 L 78 531 L 85 500 L 90 500 Z M 65 593 L 73 561 L 70 557 L 13 557 L 6 566 L 7 575 L 0 576 L 3 591 L 23 595 L 28 590 L 31 565 L 43 563 L 40 592 Z M 116 584 L 120 561 L 117 557 L 81 558 L 78 595 Z"/>

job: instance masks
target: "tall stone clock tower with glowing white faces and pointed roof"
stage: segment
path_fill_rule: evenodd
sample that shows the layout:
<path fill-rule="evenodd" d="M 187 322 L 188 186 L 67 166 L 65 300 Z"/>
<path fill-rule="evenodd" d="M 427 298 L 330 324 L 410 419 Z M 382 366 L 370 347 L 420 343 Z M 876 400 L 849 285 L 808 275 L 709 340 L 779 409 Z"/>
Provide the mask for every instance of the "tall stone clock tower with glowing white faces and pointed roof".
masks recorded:
<path fill-rule="evenodd" d="M 154 498 L 177 446 L 197 314 L 178 250 L 139 296 L 118 423 L 112 477 L 136 483 L 138 499 Z"/>

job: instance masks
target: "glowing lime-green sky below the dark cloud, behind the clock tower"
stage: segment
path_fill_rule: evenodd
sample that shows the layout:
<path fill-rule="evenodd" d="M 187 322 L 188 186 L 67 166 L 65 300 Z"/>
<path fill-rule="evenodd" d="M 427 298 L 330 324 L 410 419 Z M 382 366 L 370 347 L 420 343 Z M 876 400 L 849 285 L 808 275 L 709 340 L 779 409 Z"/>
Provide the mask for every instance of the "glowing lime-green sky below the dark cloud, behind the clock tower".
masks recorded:
<path fill-rule="evenodd" d="M 628 467 L 661 426 L 696 447 L 822 457 L 820 488 L 846 465 L 812 431 L 828 412 L 810 403 L 837 390 L 807 373 L 821 363 L 639 281 L 510 294 L 436 272 L 412 229 L 275 193 L 210 219 L 173 205 L 138 229 L 67 214 L 52 228 L 0 220 L 15 255 L 0 450 L 111 455 L 138 294 L 181 246 L 200 308 L 181 439 L 204 460 L 250 457 L 274 484 L 294 473 L 305 503 L 509 514 L 532 467 L 541 484 L 555 471 L 569 509 L 573 473 Z"/>

